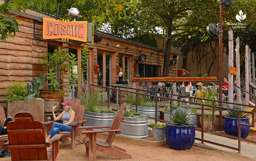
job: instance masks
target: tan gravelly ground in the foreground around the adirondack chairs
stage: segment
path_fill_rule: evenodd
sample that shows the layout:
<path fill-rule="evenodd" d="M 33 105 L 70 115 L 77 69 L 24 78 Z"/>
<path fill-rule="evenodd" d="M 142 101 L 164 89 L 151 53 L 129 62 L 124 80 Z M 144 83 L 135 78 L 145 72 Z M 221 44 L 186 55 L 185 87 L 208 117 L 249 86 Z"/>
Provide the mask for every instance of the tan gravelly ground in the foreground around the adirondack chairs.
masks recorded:
<path fill-rule="evenodd" d="M 83 135 L 84 136 L 84 135 Z M 97 137 L 98 140 L 104 141 L 105 139 Z M 85 146 L 79 142 L 76 142 L 76 148 L 70 150 L 70 138 L 67 142 L 60 142 L 60 151 L 57 156 L 59 161 L 81 161 L 89 160 L 85 155 Z M 208 150 L 193 146 L 190 150 L 172 150 L 169 146 L 164 147 L 146 147 L 141 145 L 135 145 L 132 143 L 125 143 L 114 141 L 113 145 L 126 149 L 128 154 L 132 155 L 131 159 L 118 159 L 105 153 L 97 151 L 97 160 L 99 161 L 250 161 L 256 158 L 248 158 L 237 153 L 228 153 L 218 150 Z M 11 161 L 11 157 L 1 158 L 1 161 Z"/>

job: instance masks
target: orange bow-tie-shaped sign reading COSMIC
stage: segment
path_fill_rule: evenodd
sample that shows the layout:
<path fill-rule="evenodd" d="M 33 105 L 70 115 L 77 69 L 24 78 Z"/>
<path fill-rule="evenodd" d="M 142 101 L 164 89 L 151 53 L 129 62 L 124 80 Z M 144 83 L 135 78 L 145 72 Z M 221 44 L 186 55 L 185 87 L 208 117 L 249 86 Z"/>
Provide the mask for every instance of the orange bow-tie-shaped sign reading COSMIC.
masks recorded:
<path fill-rule="evenodd" d="M 87 21 L 69 22 L 44 18 L 43 39 L 87 41 Z"/>

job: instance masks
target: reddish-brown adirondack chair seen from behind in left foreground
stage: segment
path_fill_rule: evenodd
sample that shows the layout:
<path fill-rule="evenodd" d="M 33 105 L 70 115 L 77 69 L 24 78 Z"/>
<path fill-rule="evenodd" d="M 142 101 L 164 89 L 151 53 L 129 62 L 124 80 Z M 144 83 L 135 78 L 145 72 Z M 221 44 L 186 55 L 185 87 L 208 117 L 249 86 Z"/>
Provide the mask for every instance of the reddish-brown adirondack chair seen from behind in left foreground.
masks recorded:
<path fill-rule="evenodd" d="M 55 161 L 59 152 L 59 139 L 63 134 L 56 134 L 45 142 L 44 125 L 34 121 L 30 113 L 16 113 L 14 119 L 7 124 L 8 142 L 3 144 L 3 149 L 10 149 L 12 161 Z"/>

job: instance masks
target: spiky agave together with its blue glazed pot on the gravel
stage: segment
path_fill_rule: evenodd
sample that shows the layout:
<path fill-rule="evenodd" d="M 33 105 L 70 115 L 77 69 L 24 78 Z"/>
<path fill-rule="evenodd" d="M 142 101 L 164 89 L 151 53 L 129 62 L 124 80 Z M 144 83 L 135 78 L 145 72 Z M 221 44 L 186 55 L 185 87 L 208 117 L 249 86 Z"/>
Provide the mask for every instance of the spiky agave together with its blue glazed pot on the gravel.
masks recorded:
<path fill-rule="evenodd" d="M 196 133 L 195 125 L 189 123 L 192 119 L 190 115 L 179 107 L 172 113 L 170 122 L 166 123 L 165 138 L 171 149 L 188 150 L 193 146 Z"/>

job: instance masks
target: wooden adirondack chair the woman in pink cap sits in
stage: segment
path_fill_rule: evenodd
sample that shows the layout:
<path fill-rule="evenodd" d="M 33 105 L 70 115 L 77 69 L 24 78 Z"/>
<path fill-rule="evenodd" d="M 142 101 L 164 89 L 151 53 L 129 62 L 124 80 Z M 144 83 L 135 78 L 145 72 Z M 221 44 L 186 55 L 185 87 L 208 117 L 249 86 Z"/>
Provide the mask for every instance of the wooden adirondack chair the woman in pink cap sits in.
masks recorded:
<path fill-rule="evenodd" d="M 81 127 L 83 123 L 86 123 L 86 120 L 83 120 L 84 118 L 84 106 L 80 105 L 81 101 L 79 99 L 72 99 L 72 106 L 71 109 L 75 111 L 75 119 L 74 122 L 79 122 L 77 124 L 69 124 L 69 126 L 72 126 L 71 132 L 68 131 L 60 131 L 58 134 L 63 134 L 63 137 L 60 139 L 61 142 L 65 142 L 68 140 L 68 138 L 71 138 L 71 149 L 73 150 L 76 145 L 76 141 L 83 143 L 83 137 L 80 135 L 81 130 L 78 129 L 78 127 Z M 44 125 L 47 125 L 47 134 L 49 135 L 50 130 L 52 128 L 52 124 L 54 122 L 60 122 L 62 123 L 62 120 L 55 120 L 50 122 L 44 122 Z"/>

